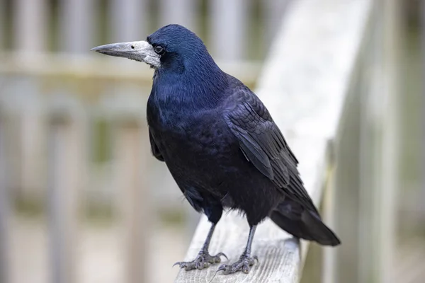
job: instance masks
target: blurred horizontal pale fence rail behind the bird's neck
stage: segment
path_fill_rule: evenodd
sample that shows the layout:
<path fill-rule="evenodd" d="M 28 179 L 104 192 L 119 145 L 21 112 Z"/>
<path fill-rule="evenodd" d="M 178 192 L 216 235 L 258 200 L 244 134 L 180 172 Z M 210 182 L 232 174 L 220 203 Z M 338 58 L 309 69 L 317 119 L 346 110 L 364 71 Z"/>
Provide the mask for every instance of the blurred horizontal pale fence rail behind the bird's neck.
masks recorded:
<path fill-rule="evenodd" d="M 64 78 L 91 82 L 94 79 L 108 81 L 131 81 L 152 85 L 152 69 L 147 64 L 124 61 L 117 64 L 115 59 L 88 58 L 69 54 L 37 53 L 22 57 L 18 52 L 0 52 L 0 75 L 34 76 L 42 79 Z M 118 60 L 118 62 L 122 62 Z M 217 64 L 229 74 L 237 76 L 248 85 L 253 85 L 259 75 L 260 64 L 255 61 L 225 62 Z M 95 81 L 98 84 L 98 81 Z M 85 94 L 85 96 L 90 93 Z"/>

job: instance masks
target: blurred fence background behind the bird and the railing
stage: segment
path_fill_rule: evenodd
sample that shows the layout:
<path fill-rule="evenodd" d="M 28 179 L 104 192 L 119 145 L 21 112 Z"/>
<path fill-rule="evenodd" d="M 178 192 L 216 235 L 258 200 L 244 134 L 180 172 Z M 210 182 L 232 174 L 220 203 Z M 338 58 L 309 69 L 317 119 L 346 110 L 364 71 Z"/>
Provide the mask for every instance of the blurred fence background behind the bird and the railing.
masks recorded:
<path fill-rule="evenodd" d="M 181 23 L 255 88 L 295 1 L 0 0 L 0 282 L 172 282 L 198 215 L 150 156 L 152 70 L 89 50 Z M 397 11 L 399 282 L 424 282 L 425 9 Z"/>

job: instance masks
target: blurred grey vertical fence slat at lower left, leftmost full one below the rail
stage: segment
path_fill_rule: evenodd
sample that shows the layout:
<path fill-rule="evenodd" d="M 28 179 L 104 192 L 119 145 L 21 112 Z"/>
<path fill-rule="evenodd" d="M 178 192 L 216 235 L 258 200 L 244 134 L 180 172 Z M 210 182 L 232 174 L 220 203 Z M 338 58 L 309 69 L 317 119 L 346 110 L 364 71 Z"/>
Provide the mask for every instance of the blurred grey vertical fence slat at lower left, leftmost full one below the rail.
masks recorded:
<path fill-rule="evenodd" d="M 49 236 L 52 282 L 77 282 L 79 192 L 84 181 L 81 113 L 54 105 L 49 119 Z"/>

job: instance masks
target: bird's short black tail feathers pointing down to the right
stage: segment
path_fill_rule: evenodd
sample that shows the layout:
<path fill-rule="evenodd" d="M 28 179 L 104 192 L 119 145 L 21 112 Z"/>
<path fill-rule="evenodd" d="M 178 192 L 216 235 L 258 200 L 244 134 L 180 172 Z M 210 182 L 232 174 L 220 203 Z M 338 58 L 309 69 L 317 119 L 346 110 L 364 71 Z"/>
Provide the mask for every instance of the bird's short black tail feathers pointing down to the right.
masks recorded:
<path fill-rule="evenodd" d="M 292 200 L 281 202 L 270 218 L 281 229 L 297 238 L 316 241 L 324 246 L 337 246 L 341 243 L 317 212 L 310 212 Z"/>

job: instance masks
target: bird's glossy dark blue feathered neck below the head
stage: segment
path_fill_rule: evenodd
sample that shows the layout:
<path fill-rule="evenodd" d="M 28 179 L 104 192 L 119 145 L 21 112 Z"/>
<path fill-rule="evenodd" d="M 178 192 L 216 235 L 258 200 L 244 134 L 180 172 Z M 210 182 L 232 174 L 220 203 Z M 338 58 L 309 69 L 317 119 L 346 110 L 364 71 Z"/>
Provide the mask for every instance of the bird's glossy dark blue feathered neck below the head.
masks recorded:
<path fill-rule="evenodd" d="M 203 66 L 200 68 L 200 66 Z M 152 93 L 159 105 L 180 110 L 215 108 L 226 93 L 227 74 L 215 63 L 186 65 L 184 71 L 157 71 Z"/>

